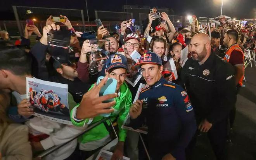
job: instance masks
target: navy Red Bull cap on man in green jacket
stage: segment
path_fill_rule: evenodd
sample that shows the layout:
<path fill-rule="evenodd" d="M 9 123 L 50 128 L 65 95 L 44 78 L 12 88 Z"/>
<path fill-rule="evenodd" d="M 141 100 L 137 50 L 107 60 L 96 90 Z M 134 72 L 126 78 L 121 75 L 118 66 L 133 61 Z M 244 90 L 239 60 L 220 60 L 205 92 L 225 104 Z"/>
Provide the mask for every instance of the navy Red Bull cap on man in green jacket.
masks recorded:
<path fill-rule="evenodd" d="M 106 61 L 107 71 L 116 67 L 128 69 L 127 59 L 124 55 L 115 53 L 113 55 L 110 55 L 109 58 L 107 58 L 107 61 Z"/>

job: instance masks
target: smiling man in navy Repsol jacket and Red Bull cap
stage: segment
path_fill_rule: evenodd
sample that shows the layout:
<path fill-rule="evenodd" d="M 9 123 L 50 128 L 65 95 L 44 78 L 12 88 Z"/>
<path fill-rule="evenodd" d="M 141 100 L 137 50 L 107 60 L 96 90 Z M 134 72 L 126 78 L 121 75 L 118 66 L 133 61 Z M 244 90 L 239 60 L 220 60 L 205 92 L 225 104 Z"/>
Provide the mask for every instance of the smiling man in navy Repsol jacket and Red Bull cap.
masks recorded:
<path fill-rule="evenodd" d="M 140 66 L 149 88 L 131 106 L 130 126 L 137 129 L 146 119 L 152 160 L 185 160 L 185 148 L 196 131 L 189 96 L 161 76 L 163 65 L 156 53 L 145 53 L 135 66 Z"/>

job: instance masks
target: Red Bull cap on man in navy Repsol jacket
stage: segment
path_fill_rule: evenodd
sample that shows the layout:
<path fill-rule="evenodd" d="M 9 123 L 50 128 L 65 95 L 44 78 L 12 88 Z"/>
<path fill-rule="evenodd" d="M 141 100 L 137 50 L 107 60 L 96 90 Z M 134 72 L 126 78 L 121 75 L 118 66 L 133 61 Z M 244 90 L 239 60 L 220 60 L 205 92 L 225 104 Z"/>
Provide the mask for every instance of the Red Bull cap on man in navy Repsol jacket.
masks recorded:
<path fill-rule="evenodd" d="M 159 64 L 162 65 L 161 58 L 153 52 L 146 52 L 144 55 L 140 57 L 140 60 L 134 66 L 139 67 L 142 64 Z"/>

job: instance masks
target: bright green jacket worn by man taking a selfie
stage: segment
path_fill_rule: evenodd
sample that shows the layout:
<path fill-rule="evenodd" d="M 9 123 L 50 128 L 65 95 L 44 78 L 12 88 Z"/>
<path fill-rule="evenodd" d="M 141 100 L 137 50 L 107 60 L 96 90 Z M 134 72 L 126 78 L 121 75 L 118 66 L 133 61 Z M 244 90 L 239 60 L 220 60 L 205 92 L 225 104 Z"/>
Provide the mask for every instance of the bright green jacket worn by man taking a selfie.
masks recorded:
<path fill-rule="evenodd" d="M 92 87 L 94 84 L 92 85 Z M 90 89 L 92 89 L 92 87 Z M 89 89 L 89 90 L 90 90 Z M 125 141 L 126 138 L 126 129 L 122 129 L 122 125 L 124 120 L 126 119 L 126 116 L 130 110 L 130 106 L 132 104 L 132 96 L 131 96 L 131 91 L 128 88 L 126 83 L 123 83 L 119 89 L 120 95 L 115 98 L 116 105 L 113 107 L 114 112 L 110 114 L 111 120 L 113 121 L 118 117 L 118 127 L 119 127 L 119 141 Z M 71 111 L 72 115 L 73 110 Z M 119 116 L 118 116 L 119 115 Z M 93 118 L 92 124 L 102 120 L 104 117 L 102 115 L 98 115 L 97 117 Z M 82 122 L 75 122 L 72 118 L 71 121 L 74 126 L 82 127 L 84 124 L 84 121 Z M 107 124 L 110 125 L 110 123 L 107 121 Z M 78 141 L 81 144 L 92 142 L 92 141 L 98 141 L 101 139 L 106 138 L 109 136 L 109 132 L 107 131 L 104 123 L 94 127 L 90 131 L 86 132 L 83 134 Z"/>

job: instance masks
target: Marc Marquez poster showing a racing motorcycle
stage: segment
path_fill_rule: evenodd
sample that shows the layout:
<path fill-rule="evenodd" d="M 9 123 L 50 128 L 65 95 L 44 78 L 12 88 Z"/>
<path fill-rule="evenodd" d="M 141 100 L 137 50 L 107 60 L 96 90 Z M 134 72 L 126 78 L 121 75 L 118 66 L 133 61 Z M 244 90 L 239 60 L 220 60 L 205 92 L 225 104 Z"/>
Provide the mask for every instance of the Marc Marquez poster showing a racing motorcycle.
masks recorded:
<path fill-rule="evenodd" d="M 67 100 L 67 84 L 26 78 L 27 98 L 35 116 L 72 125 Z"/>

